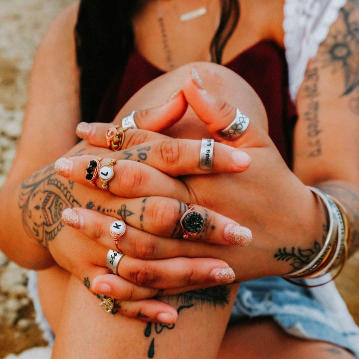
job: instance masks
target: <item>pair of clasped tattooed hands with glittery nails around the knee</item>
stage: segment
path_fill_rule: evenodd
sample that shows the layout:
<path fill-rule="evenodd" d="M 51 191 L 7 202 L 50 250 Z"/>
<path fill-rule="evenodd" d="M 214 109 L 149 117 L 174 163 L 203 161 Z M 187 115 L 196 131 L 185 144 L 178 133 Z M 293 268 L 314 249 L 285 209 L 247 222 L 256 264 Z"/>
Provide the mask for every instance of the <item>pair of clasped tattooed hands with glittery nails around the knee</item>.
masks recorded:
<path fill-rule="evenodd" d="M 81 123 L 77 133 L 93 155 L 60 159 L 55 165 L 59 175 L 90 186 L 84 174 L 95 156 L 103 158 L 103 164 L 117 160 L 108 191 L 91 189 L 96 200 L 63 215 L 81 235 L 71 244 L 74 250 L 63 260 L 56 255 L 56 245 L 49 249 L 91 292 L 119 299 L 122 314 L 137 317 L 141 312 L 144 321 L 172 324 L 177 318 L 170 305 L 150 298 L 286 274 L 293 268 L 278 262 L 276 251 L 298 244 L 311 247 L 314 241 L 310 230 L 304 233 L 311 227 L 308 211 L 315 213 L 317 204 L 269 139 L 263 113 L 250 117 L 239 139 L 223 140 L 218 132 L 233 120 L 235 107 L 199 81 L 192 76 L 166 104 L 137 112 L 140 130 L 126 132 L 121 151 L 106 149 L 111 125 Z M 179 126 L 188 104 L 195 113 L 192 120 L 202 121 L 216 140 L 210 173 L 198 166 L 200 141 L 159 133 L 175 123 Z M 179 219 L 186 203 L 202 213 L 204 225 L 199 234 L 183 239 Z M 116 250 L 109 231 L 115 219 L 127 224 L 118 243 L 126 254 L 119 276 L 105 267 L 108 250 Z M 250 244 L 247 228 L 253 233 Z"/>

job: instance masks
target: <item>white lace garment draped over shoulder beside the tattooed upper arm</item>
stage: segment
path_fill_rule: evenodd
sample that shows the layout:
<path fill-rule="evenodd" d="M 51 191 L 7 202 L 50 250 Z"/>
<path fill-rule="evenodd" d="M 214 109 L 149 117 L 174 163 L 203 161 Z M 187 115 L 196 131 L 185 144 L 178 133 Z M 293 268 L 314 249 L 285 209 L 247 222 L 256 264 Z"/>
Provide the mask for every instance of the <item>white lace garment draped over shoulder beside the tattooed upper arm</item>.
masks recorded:
<path fill-rule="evenodd" d="M 292 100 L 297 97 L 308 61 L 327 37 L 339 9 L 347 0 L 286 0 L 284 5 L 284 44 Z"/>

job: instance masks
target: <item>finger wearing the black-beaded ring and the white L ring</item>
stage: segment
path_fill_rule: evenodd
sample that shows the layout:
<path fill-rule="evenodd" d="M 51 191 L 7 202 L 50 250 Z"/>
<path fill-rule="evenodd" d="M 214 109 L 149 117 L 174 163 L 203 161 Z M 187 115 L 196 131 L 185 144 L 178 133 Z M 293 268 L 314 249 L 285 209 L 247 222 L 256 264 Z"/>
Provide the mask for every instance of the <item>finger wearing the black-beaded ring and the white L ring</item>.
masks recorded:
<path fill-rule="evenodd" d="M 111 167 L 105 167 L 102 170 L 100 167 L 98 171 L 96 170 L 98 176 L 94 178 L 94 181 L 90 181 L 87 176 L 93 176 L 95 173 L 95 169 L 91 167 L 92 160 L 94 157 L 88 155 L 60 159 L 56 161 L 55 169 L 56 171 L 60 169 L 61 172 L 58 173 L 69 180 L 89 186 L 95 183 L 99 188 L 102 188 L 104 183 L 105 177 L 103 176 L 107 174 L 108 177 L 109 173 L 113 171 L 113 177 L 107 183 L 108 189 L 116 195 L 127 198 L 154 194 L 173 197 L 176 193 L 179 199 L 188 201 L 188 190 L 181 180 L 169 177 L 151 166 L 135 161 L 120 160 Z M 103 159 L 99 164 L 105 165 L 110 161 L 111 159 Z M 64 171 L 66 164 L 68 164 L 68 171 Z M 88 168 L 90 170 L 87 170 Z"/>

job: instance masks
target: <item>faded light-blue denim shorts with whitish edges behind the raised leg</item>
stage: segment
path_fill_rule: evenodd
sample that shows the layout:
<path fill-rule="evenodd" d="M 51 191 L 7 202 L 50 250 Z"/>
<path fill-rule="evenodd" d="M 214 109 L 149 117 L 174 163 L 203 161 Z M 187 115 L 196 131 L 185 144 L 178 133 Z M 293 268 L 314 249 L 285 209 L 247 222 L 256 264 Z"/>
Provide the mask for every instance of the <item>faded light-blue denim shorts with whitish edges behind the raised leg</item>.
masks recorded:
<path fill-rule="evenodd" d="M 37 322 L 52 346 L 54 336 L 41 311 L 34 271 L 29 271 L 28 290 Z M 333 282 L 317 288 L 298 287 L 280 277 L 244 282 L 240 285 L 229 323 L 260 317 L 273 318 L 285 332 L 295 337 L 336 344 L 359 359 L 359 328 Z"/>

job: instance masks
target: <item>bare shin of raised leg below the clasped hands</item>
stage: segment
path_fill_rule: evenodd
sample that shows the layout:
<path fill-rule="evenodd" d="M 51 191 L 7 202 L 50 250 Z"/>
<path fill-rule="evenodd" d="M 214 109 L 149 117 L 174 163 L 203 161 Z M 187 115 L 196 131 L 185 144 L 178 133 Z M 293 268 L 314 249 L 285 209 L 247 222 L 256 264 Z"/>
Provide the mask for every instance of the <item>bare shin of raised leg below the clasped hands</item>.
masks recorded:
<path fill-rule="evenodd" d="M 99 300 L 71 278 L 52 358 L 216 358 L 235 287 L 231 294 L 228 287 L 222 288 L 230 302 L 223 306 L 224 297 L 211 298 L 208 291 L 186 300 L 172 297 L 170 303 L 180 311 L 178 321 L 175 326 L 162 326 L 105 313 Z"/>

